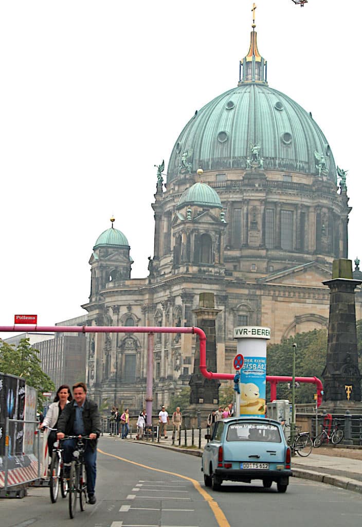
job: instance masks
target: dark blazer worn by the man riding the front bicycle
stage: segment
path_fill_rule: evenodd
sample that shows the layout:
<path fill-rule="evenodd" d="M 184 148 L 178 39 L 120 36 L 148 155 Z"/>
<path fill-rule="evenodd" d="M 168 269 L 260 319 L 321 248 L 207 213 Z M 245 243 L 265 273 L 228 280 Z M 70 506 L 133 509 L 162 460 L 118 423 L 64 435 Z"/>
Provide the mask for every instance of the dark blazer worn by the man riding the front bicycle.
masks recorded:
<path fill-rule="evenodd" d="M 74 435 L 75 407 L 74 401 L 64 407 L 58 419 L 58 432 L 65 435 Z M 83 424 L 85 435 L 97 434 L 97 439 L 90 441 L 92 450 L 95 450 L 100 435 L 100 415 L 98 405 L 90 399 L 86 399 L 83 407 Z"/>

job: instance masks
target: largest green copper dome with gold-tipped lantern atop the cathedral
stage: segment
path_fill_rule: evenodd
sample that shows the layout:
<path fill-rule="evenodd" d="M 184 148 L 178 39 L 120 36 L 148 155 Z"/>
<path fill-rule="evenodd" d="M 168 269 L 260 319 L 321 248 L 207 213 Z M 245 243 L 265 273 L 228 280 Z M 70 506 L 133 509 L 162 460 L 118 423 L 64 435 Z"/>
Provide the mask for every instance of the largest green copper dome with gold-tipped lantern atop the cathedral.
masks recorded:
<path fill-rule="evenodd" d="M 178 136 L 167 181 L 203 170 L 245 169 L 258 145 L 264 170 L 293 171 L 336 181 L 336 165 L 325 135 L 306 112 L 265 80 L 266 63 L 252 32 L 241 62 L 238 86 L 197 111 Z M 319 165 L 319 168 L 318 168 Z"/>

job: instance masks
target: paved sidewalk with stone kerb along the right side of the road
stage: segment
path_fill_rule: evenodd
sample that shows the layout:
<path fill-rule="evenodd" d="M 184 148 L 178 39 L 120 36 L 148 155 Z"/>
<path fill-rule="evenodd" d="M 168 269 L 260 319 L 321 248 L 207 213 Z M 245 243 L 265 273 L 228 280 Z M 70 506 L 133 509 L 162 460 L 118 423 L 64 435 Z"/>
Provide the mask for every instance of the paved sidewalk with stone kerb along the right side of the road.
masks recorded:
<path fill-rule="evenodd" d="M 168 448 L 194 456 L 202 456 L 203 447 L 206 444 L 206 430 L 201 435 L 201 450 L 197 447 L 185 447 L 172 445 L 172 433 L 168 439 L 160 438 L 160 441 L 137 441 L 138 444 Z M 189 438 L 190 439 L 190 438 Z M 189 441 L 188 439 L 188 441 Z M 130 438 L 126 441 L 134 441 Z M 182 436 L 182 445 L 184 438 Z M 191 441 L 188 443 L 191 444 Z M 198 445 L 198 435 L 195 434 L 195 445 Z M 323 452 L 323 453 L 321 453 Z M 307 457 L 293 456 L 291 469 L 294 477 L 301 477 L 306 480 L 327 483 L 336 487 L 341 487 L 353 492 L 362 494 L 362 450 L 343 447 L 320 447 L 313 448 Z"/>

